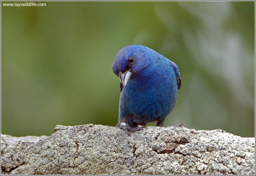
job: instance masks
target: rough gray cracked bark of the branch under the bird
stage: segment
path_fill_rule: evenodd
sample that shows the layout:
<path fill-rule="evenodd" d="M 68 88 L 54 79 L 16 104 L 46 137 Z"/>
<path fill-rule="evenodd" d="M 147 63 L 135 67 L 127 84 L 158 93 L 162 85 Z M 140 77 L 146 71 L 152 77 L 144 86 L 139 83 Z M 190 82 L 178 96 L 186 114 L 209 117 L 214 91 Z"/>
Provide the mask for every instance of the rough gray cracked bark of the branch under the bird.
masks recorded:
<path fill-rule="evenodd" d="M 56 126 L 51 136 L 1 135 L 2 174 L 255 174 L 255 138 L 221 129 Z"/>

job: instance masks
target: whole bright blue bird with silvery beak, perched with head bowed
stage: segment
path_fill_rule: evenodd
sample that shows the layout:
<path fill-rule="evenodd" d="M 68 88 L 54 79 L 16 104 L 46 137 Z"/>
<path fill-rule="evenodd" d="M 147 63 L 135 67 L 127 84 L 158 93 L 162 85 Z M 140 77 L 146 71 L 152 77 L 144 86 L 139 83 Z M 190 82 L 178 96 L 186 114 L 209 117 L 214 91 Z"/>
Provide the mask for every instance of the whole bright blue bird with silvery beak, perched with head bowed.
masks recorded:
<path fill-rule="evenodd" d="M 181 85 L 177 65 L 148 47 L 129 45 L 118 52 L 112 67 L 121 92 L 116 126 L 127 131 L 154 121 L 163 126 Z"/>

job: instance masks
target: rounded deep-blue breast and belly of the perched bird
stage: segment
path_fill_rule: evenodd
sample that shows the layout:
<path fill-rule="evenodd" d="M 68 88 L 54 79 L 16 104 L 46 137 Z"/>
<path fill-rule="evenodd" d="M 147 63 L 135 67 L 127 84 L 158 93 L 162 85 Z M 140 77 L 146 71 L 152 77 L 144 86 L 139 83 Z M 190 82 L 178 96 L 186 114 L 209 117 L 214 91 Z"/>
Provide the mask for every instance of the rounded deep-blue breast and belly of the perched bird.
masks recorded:
<path fill-rule="evenodd" d="M 170 77 L 131 79 L 120 96 L 125 111 L 136 117 L 161 117 L 172 110 L 177 98 L 177 85 Z"/>

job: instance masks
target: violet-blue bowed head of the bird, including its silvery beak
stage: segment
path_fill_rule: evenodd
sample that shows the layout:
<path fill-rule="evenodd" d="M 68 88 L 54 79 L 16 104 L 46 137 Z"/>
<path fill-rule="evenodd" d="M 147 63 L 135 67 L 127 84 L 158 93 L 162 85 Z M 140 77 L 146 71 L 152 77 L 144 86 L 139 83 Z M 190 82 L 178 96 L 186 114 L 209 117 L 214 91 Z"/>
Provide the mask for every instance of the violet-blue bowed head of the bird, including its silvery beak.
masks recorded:
<path fill-rule="evenodd" d="M 132 75 L 139 74 L 148 67 L 150 64 L 149 55 L 152 51 L 150 48 L 141 45 L 129 45 L 116 54 L 112 68 L 120 78 L 123 87 Z"/>

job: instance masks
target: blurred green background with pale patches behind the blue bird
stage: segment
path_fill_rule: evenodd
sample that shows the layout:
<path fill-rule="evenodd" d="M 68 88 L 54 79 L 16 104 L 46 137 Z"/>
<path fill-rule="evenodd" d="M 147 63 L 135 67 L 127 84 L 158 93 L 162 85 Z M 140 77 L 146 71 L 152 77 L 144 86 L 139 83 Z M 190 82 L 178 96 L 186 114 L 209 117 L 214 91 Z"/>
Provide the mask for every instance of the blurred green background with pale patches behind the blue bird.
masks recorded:
<path fill-rule="evenodd" d="M 1 2 L 1 133 L 118 121 L 118 50 L 145 45 L 179 66 L 164 126 L 254 136 L 254 2 Z M 156 125 L 156 124 L 150 124 Z"/>

